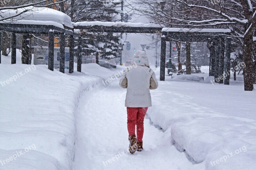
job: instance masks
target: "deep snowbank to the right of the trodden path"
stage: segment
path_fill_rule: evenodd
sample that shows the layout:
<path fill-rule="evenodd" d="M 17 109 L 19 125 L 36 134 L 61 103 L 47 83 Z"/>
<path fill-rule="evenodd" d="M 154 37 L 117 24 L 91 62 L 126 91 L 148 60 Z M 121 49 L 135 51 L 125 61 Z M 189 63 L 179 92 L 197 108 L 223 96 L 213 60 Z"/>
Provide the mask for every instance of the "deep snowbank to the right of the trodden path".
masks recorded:
<path fill-rule="evenodd" d="M 230 85 L 159 82 L 147 114 L 154 125 L 171 129 L 172 142 L 191 162 L 203 162 L 207 170 L 253 170 L 255 95 L 232 79 Z"/>

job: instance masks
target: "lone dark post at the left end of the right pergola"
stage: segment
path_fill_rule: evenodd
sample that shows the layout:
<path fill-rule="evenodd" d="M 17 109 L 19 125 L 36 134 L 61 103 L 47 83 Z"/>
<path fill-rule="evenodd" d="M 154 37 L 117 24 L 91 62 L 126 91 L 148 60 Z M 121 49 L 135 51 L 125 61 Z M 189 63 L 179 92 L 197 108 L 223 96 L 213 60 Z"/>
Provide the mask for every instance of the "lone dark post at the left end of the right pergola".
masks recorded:
<path fill-rule="evenodd" d="M 165 36 L 161 37 L 161 58 L 160 58 L 160 81 L 165 80 L 165 55 L 166 55 L 166 41 Z"/>

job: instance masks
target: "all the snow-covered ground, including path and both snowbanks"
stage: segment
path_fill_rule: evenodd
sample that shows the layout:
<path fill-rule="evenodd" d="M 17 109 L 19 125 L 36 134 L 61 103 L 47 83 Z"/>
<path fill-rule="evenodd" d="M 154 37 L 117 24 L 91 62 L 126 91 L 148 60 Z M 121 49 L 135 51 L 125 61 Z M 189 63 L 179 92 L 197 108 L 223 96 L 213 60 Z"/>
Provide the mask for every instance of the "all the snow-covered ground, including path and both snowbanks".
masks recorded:
<path fill-rule="evenodd" d="M 151 91 L 144 150 L 131 155 L 126 90 L 109 79 L 122 69 L 0 64 L 0 169 L 255 169 L 255 90 L 244 91 L 242 76 L 230 85 L 166 76 Z"/>

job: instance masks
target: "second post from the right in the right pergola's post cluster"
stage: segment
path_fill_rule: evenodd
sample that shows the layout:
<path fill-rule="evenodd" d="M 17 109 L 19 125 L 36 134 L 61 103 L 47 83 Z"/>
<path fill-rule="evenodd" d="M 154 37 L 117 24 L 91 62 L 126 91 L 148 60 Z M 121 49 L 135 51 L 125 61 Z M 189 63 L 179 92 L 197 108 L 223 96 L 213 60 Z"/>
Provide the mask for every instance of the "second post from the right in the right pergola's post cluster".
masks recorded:
<path fill-rule="evenodd" d="M 224 55 L 225 55 L 225 39 L 220 38 L 220 61 L 219 61 L 219 84 L 223 84 L 224 79 Z"/>

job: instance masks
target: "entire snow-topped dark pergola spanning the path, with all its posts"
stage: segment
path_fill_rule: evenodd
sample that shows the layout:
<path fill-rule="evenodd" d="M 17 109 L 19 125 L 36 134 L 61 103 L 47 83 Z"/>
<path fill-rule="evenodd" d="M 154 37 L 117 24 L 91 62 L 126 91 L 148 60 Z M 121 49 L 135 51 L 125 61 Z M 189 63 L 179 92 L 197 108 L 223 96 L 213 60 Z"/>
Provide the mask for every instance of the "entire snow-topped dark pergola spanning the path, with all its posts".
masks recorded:
<path fill-rule="evenodd" d="M 33 7 L 31 7 L 33 8 Z M 34 9 L 34 8 L 33 8 Z M 15 11 L 1 11 L 6 16 L 15 16 Z M 111 33 L 160 33 L 161 37 L 161 62 L 160 62 L 160 80 L 165 79 L 165 57 L 166 57 L 166 41 L 215 41 L 215 54 L 212 55 L 210 63 L 214 77 L 218 78 L 223 75 L 224 71 L 227 75 L 224 84 L 229 84 L 230 78 L 230 30 L 229 29 L 190 29 L 190 28 L 163 28 L 163 25 L 142 24 L 142 23 L 124 23 L 124 22 L 71 22 L 71 18 L 60 12 L 49 8 L 37 8 L 36 12 L 24 15 L 22 19 L 13 18 L 11 21 L 1 21 L 0 31 L 12 33 L 12 57 L 11 63 L 16 63 L 16 34 L 35 35 L 48 34 L 48 69 L 54 69 L 54 35 L 60 35 L 60 72 L 65 71 L 65 35 L 70 36 L 69 48 L 69 73 L 74 71 L 74 37 L 78 37 L 77 46 L 77 71 L 81 72 L 82 66 L 82 37 L 80 34 L 74 33 L 75 29 L 83 29 L 88 32 L 111 32 Z M 1 35 L 1 32 L 0 32 Z M 0 36 L 1 37 L 1 36 Z M 25 40 L 28 41 L 28 40 Z M 0 41 L 1 48 L 1 41 Z M 171 51 L 170 51 L 171 56 Z M 226 59 L 226 61 L 225 61 Z M 120 61 L 122 58 L 120 58 Z M 214 62 L 213 62 L 214 61 Z M 1 54 L 0 54 L 1 63 Z M 225 63 L 225 66 L 224 66 Z M 219 82 L 223 83 L 223 81 Z"/>

